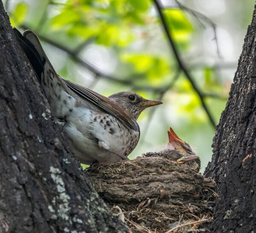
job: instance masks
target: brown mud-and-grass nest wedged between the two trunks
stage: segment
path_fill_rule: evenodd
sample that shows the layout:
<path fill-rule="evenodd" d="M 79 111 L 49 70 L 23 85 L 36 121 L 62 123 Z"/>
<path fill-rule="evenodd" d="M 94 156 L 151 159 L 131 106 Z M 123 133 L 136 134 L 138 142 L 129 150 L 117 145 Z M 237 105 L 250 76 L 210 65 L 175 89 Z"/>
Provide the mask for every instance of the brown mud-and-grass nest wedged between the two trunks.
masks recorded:
<path fill-rule="evenodd" d="M 99 195 L 135 232 L 192 232 L 210 221 L 215 182 L 164 157 L 87 169 Z"/>

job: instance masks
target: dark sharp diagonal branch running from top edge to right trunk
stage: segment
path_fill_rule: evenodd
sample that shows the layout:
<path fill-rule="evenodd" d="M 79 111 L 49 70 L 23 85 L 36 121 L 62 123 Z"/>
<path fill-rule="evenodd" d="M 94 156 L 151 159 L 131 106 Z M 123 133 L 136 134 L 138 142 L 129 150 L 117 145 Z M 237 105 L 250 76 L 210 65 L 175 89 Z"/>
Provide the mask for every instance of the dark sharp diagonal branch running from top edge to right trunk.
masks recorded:
<path fill-rule="evenodd" d="M 185 64 L 184 64 L 183 61 L 181 60 L 180 54 L 179 54 L 179 52 L 177 51 L 176 45 L 175 45 L 175 43 L 174 43 L 174 40 L 172 39 L 172 36 L 171 36 L 171 33 L 169 32 L 169 29 L 168 29 L 166 20 L 165 20 L 165 18 L 164 18 L 164 16 L 163 16 L 163 13 L 162 13 L 162 11 L 161 11 L 160 4 L 158 3 L 157 0 L 154 0 L 154 3 L 155 3 L 155 6 L 156 6 L 156 8 L 157 8 L 157 12 L 158 12 L 158 14 L 159 14 L 159 16 L 160 16 L 160 19 L 161 19 L 161 21 L 162 21 L 162 23 L 163 23 L 163 28 L 164 28 L 164 30 L 165 30 L 165 32 L 166 32 L 166 35 L 167 35 L 167 37 L 168 37 L 169 44 L 170 44 L 171 47 L 172 47 L 172 50 L 173 50 L 173 53 L 174 53 L 174 55 L 175 55 L 175 57 L 176 57 L 177 63 L 179 64 L 180 69 L 183 70 L 185 76 L 187 77 L 187 79 L 188 79 L 189 82 L 191 83 L 191 85 L 192 85 L 192 87 L 194 88 L 195 92 L 198 94 L 198 97 L 199 97 L 199 99 L 201 100 L 201 104 L 202 104 L 202 106 L 203 106 L 203 108 L 204 108 L 204 110 L 205 110 L 205 112 L 206 112 L 206 114 L 207 114 L 207 116 L 208 116 L 208 118 L 209 118 L 209 120 L 210 120 L 212 126 L 216 129 L 215 121 L 214 121 L 214 119 L 213 119 L 213 117 L 212 117 L 212 114 L 210 113 L 210 111 L 209 111 L 209 109 L 208 109 L 208 107 L 207 107 L 205 101 L 204 101 L 204 96 L 203 96 L 201 90 L 198 88 L 197 84 L 196 84 L 195 81 L 192 79 L 191 75 L 189 74 L 189 71 L 187 70 Z"/>

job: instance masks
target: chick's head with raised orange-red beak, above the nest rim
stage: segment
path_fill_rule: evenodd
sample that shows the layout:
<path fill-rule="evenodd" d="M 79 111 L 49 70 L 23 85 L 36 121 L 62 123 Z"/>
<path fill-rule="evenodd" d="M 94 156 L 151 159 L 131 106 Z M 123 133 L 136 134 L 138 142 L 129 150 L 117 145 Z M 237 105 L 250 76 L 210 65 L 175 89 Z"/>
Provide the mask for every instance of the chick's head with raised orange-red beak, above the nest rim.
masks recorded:
<path fill-rule="evenodd" d="M 179 151 L 182 155 L 187 154 L 195 154 L 194 151 L 192 151 L 189 144 L 184 142 L 182 139 L 180 139 L 177 134 L 173 131 L 173 129 L 170 127 L 170 131 L 168 131 L 168 147 L 172 150 Z"/>

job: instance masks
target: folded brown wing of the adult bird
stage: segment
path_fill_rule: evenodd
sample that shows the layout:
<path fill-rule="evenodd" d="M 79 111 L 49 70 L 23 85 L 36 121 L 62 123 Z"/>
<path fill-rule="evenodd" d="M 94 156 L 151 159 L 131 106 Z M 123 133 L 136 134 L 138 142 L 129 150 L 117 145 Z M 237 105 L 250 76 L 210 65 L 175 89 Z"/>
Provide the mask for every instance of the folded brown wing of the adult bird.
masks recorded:
<path fill-rule="evenodd" d="M 102 96 L 101 94 L 98 94 L 95 91 L 92 91 L 88 88 L 71 82 L 70 80 L 65 80 L 62 77 L 61 80 L 67 85 L 68 88 L 70 88 L 80 97 L 83 97 L 84 99 L 92 102 L 93 104 L 101 108 L 106 113 L 112 115 L 113 117 L 116 117 L 116 119 L 122 122 L 122 124 L 125 125 L 126 128 L 139 131 L 139 126 L 136 120 L 133 119 L 125 109 L 120 107 L 113 100 L 108 99 L 107 97 Z"/>

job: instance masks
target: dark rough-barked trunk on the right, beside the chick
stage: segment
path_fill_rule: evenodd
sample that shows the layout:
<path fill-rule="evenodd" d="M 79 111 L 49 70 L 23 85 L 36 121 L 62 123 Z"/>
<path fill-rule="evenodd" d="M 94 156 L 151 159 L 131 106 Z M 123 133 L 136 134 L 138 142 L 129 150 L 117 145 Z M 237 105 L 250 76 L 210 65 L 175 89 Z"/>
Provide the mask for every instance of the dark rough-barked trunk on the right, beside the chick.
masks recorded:
<path fill-rule="evenodd" d="M 256 10 L 205 175 L 218 185 L 212 232 L 256 229 Z"/>

